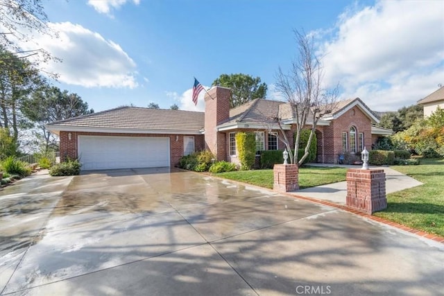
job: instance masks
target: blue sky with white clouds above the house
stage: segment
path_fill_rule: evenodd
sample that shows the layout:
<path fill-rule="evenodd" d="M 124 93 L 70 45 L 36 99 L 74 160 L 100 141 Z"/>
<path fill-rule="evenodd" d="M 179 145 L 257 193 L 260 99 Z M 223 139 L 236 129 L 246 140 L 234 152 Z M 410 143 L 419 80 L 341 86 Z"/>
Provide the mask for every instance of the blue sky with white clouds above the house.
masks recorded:
<path fill-rule="evenodd" d="M 33 33 L 62 62 L 53 85 L 95 112 L 121 105 L 203 111 L 191 101 L 223 73 L 268 85 L 297 58 L 293 30 L 314 36 L 326 87 L 359 97 L 372 110 L 416 104 L 444 85 L 444 1 L 51 0 L 43 1 L 58 38 Z"/>

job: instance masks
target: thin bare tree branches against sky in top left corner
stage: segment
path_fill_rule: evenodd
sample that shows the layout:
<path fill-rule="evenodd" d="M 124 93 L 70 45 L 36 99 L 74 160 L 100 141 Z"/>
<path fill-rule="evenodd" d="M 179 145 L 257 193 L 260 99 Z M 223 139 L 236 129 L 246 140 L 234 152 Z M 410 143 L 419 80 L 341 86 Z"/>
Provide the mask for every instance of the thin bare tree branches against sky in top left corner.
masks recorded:
<path fill-rule="evenodd" d="M 13 51 L 12 57 L 0 56 L 0 60 L 28 58 L 35 55 L 35 61 L 47 61 L 49 59 L 60 61 L 54 58 L 44 49 L 33 49 L 24 51 L 19 45 L 20 42 L 31 42 L 31 35 L 26 32 L 35 32 L 51 37 L 58 37 L 48 25 L 48 16 L 44 12 L 42 0 L 0 0 L 0 46 Z M 36 44 L 37 46 L 37 44 Z M 49 73 L 56 77 L 56 74 Z"/>

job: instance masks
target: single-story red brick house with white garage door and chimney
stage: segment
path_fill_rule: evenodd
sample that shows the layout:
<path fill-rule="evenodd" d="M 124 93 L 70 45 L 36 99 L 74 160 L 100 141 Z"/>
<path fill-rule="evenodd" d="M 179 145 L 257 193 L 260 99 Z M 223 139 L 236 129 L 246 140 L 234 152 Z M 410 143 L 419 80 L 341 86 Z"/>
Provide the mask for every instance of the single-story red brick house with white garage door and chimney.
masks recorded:
<path fill-rule="evenodd" d="M 289 103 L 256 99 L 230 109 L 230 89 L 205 94 L 205 112 L 119 107 L 49 123 L 60 136 L 60 157 L 80 158 L 83 170 L 176 166 L 195 150 L 211 150 L 218 160 L 238 162 L 237 132 L 254 132 L 257 150 L 283 150 L 276 117 L 290 141 L 296 119 Z M 388 131 L 359 98 L 340 101 L 318 121 L 316 162 L 334 164 L 342 153 L 370 150 Z M 310 124 L 309 122 L 307 124 Z M 293 145 L 293 143 L 291 143 Z"/>

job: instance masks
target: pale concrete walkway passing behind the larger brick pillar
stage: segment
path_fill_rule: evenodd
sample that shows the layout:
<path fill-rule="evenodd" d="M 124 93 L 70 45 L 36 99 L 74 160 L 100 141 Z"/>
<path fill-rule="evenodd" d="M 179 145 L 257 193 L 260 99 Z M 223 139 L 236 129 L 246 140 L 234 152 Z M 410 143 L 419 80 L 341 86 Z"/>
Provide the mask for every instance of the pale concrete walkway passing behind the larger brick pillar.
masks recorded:
<path fill-rule="evenodd" d="M 344 164 L 309 164 L 310 166 L 331 166 L 342 168 L 360 168 L 361 166 L 349 166 Z M 422 185 L 422 182 L 404 175 L 392 168 L 382 166 L 370 166 L 370 168 L 382 168 L 386 173 L 386 193 L 393 193 L 411 187 Z M 306 198 L 314 198 L 316 200 L 326 200 L 336 204 L 345 204 L 347 197 L 347 182 L 337 182 L 322 186 L 300 189 L 292 192 L 292 194 L 304 196 Z"/>

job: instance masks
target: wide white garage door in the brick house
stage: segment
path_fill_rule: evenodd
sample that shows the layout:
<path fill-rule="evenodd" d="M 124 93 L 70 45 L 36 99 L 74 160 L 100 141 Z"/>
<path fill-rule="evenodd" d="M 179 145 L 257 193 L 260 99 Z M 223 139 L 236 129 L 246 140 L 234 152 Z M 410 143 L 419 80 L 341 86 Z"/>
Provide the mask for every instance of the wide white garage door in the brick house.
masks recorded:
<path fill-rule="evenodd" d="M 82 170 L 169 166 L 169 137 L 78 137 Z"/>

